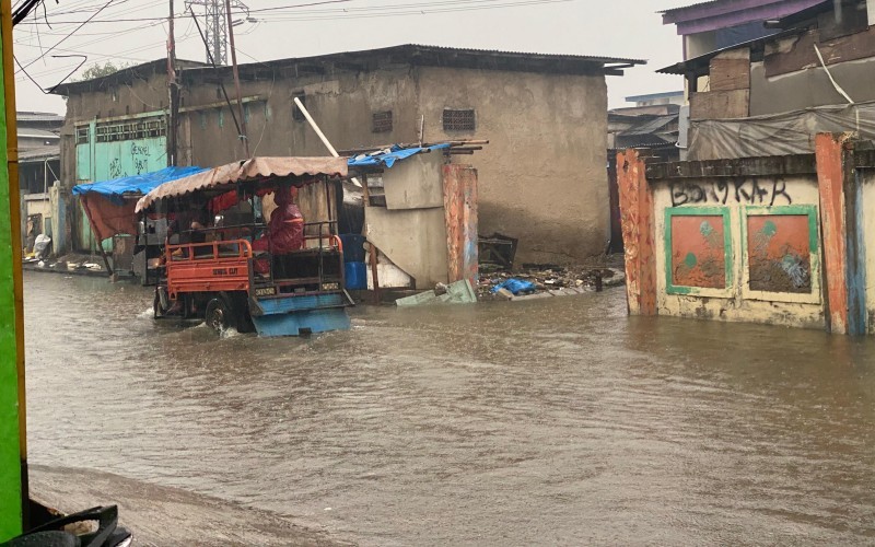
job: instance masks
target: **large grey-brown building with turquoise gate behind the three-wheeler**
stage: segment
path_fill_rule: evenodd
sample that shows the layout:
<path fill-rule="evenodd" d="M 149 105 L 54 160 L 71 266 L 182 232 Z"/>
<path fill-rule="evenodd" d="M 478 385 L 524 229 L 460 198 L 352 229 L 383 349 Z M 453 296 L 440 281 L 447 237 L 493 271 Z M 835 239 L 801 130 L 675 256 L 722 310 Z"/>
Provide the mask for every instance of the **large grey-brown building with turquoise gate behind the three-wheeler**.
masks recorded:
<path fill-rule="evenodd" d="M 406 45 L 243 65 L 240 74 L 253 154 L 325 153 L 295 96 L 341 151 L 489 140 L 471 159 L 480 233 L 518 238 L 518 261 L 571 263 L 608 240 L 605 75 L 642 62 Z M 233 90 L 231 68 L 180 62 L 179 81 L 178 164 L 242 158 L 236 108 L 222 90 Z M 55 93 L 68 97 L 65 186 L 167 165 L 164 59 Z M 86 223 L 78 220 L 82 246 Z"/>

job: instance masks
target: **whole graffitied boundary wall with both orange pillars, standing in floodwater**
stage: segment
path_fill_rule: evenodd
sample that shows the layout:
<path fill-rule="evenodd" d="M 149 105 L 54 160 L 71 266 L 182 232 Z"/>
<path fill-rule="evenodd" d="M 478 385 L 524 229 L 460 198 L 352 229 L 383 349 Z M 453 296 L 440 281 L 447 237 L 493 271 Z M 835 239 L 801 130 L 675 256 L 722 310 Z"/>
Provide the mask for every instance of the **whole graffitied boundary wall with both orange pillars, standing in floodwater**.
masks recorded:
<path fill-rule="evenodd" d="M 618 156 L 632 314 L 875 334 L 875 152 L 645 165 Z"/>

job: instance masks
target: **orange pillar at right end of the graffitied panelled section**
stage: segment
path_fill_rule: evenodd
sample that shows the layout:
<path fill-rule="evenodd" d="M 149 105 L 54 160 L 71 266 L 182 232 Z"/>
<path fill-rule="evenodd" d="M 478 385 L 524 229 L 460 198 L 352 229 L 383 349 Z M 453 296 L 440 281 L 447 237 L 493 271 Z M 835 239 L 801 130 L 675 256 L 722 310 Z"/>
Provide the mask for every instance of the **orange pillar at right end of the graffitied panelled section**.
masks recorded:
<path fill-rule="evenodd" d="M 847 133 L 815 137 L 817 184 L 820 191 L 820 233 L 824 243 L 824 292 L 827 330 L 848 333 L 848 254 L 844 187 L 854 177 Z"/>

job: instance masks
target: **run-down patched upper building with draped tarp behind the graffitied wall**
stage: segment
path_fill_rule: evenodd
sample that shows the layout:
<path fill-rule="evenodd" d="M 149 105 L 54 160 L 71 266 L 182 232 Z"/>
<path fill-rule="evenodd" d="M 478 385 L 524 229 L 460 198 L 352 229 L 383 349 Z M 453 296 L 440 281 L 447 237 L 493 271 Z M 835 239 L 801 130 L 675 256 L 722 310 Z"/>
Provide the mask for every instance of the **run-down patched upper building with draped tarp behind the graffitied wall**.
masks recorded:
<path fill-rule="evenodd" d="M 875 138 L 872 23 L 875 2 L 814 2 L 770 20 L 777 34 L 658 70 L 688 83 L 687 159 L 810 153 L 825 131 Z"/>

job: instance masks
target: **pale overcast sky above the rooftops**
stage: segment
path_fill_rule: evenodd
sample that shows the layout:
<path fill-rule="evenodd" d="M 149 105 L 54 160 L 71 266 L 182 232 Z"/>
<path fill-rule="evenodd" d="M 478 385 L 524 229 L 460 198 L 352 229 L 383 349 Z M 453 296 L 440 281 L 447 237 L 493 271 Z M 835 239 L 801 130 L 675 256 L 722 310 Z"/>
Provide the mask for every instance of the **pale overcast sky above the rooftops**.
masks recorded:
<path fill-rule="evenodd" d="M 199 0 L 203 1 L 203 0 Z M 692 0 L 245 0 L 256 22 L 235 27 L 238 62 L 368 49 L 399 44 L 504 49 L 646 59 L 625 77 L 608 77 L 611 107 L 628 95 L 682 89 L 677 77 L 654 70 L 680 60 L 680 38 L 658 10 Z M 18 3 L 18 2 L 14 2 Z M 95 62 L 144 62 L 165 56 L 170 2 L 155 0 L 46 0 L 15 27 L 15 57 L 42 88 L 58 83 L 86 55 Z M 101 10 L 101 8 L 103 8 Z M 185 0 L 175 0 L 177 13 Z M 101 10 L 98 12 L 98 10 Z M 261 10 L 261 11 L 259 11 Z M 203 7 L 195 7 L 203 19 Z M 92 18 L 80 28 L 80 23 Z M 48 24 L 46 24 L 46 22 Z M 51 25 L 50 27 L 48 25 Z M 72 33 L 72 34 L 71 34 Z M 190 16 L 176 22 L 179 58 L 206 61 Z M 52 46 L 54 49 L 50 49 Z M 18 109 L 65 113 L 19 71 Z"/>

